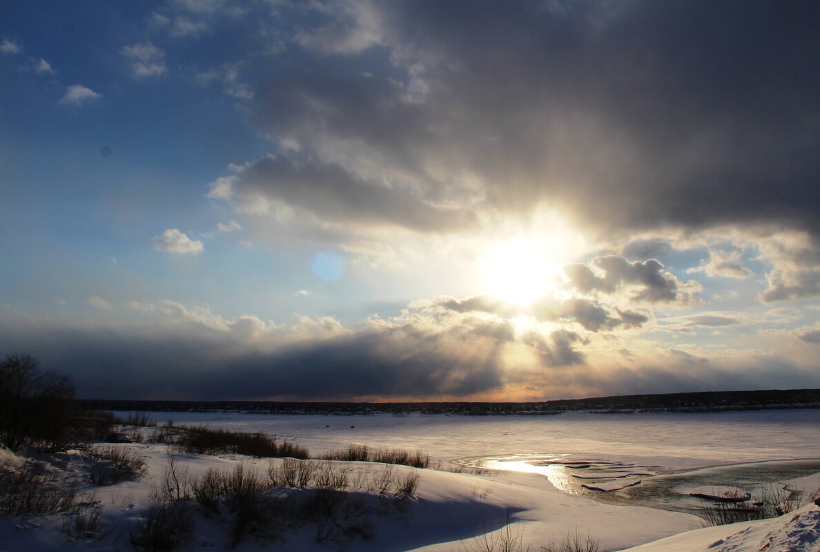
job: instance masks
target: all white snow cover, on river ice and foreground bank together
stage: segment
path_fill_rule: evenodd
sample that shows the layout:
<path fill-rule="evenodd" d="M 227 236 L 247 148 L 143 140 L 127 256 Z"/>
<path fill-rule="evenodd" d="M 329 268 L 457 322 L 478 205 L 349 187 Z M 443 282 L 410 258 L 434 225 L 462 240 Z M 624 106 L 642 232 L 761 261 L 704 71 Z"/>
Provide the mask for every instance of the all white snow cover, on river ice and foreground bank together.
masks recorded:
<path fill-rule="evenodd" d="M 262 431 L 297 441 L 318 455 L 361 443 L 422 450 L 442 469 L 397 467 L 418 473 L 419 485 L 408 507 L 374 514 L 375 536 L 353 539 L 347 550 L 362 552 L 459 552 L 474 550 L 473 536 L 502 526 L 509 516 L 514 535 L 539 552 L 541 545 L 579 534 L 599 539 L 611 550 L 634 552 L 820 552 L 820 508 L 806 506 L 783 518 L 732 526 L 700 527 L 688 514 L 602 504 L 567 494 L 539 473 L 490 470 L 452 473 L 453 460 L 490 455 L 561 455 L 566 461 L 594 459 L 613 467 L 638 464 L 681 469 L 768 459 L 820 458 L 820 411 L 782 410 L 720 414 L 561 414 L 544 417 L 462 416 L 266 416 L 261 414 L 154 413 L 159 422 L 207 423 L 237 431 Z M 148 472 L 137 482 L 112 486 L 84 483 L 103 504 L 103 540 L 66 541 L 61 516 L 0 518 L 0 550 L 130 550 L 128 528 L 144 516 L 153 485 L 163 480 L 168 450 L 161 445 L 118 445 L 139 451 Z M 238 464 L 265 470 L 269 460 L 239 456 L 183 455 L 192 474 Z M 274 460 L 280 462 L 280 460 Z M 617 464 L 616 464 L 617 463 Z M 580 465 L 580 464 L 579 464 Z M 68 470 L 79 473 L 82 460 L 67 456 Z M 353 463 L 354 472 L 372 473 L 380 464 Z M 623 470 L 624 473 L 629 470 Z M 613 469 L 613 472 L 615 470 Z M 617 480 L 616 480 L 617 481 Z M 731 482 L 727 482 L 731 484 Z M 820 486 L 820 476 L 793 484 Z M 503 531 L 503 529 L 502 529 Z M 498 534 L 498 533 L 496 533 Z M 242 541 L 235 550 L 339 550 L 317 543 L 308 527 L 285 532 L 273 541 Z M 225 527 L 198 519 L 189 550 L 227 548 Z M 663 539 L 663 540 L 661 540 Z M 649 543 L 649 544 L 646 544 Z M 768 546 L 767 543 L 771 543 Z M 764 546 L 766 546 L 764 548 Z M 525 546 L 526 548 L 526 546 Z M 522 549 L 523 550 L 523 549 Z"/>

